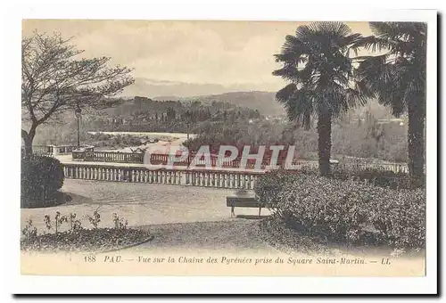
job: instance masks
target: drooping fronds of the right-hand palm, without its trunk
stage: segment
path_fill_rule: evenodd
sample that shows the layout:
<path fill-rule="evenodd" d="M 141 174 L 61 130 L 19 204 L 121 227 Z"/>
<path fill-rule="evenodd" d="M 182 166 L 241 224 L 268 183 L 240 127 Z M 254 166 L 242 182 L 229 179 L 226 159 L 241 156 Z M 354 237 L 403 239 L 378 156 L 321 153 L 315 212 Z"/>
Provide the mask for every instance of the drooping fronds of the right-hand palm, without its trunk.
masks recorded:
<path fill-rule="evenodd" d="M 359 79 L 395 116 L 417 99 L 425 110 L 426 29 L 422 22 L 370 22 L 374 36 L 355 43 L 381 55 L 359 57 Z"/>

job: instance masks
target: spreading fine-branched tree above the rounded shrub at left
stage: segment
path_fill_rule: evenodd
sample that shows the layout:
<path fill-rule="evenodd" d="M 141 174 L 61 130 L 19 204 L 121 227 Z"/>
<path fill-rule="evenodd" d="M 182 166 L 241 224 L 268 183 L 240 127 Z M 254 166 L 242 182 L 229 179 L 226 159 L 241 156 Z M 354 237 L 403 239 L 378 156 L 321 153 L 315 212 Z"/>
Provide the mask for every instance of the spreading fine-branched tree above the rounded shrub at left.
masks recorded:
<path fill-rule="evenodd" d="M 28 130 L 21 129 L 25 155 L 32 154 L 38 126 L 56 119 L 63 111 L 104 108 L 115 102 L 134 79 L 126 67 L 109 68 L 110 58 L 79 59 L 83 51 L 63 39 L 34 32 L 21 41 L 21 109 Z"/>

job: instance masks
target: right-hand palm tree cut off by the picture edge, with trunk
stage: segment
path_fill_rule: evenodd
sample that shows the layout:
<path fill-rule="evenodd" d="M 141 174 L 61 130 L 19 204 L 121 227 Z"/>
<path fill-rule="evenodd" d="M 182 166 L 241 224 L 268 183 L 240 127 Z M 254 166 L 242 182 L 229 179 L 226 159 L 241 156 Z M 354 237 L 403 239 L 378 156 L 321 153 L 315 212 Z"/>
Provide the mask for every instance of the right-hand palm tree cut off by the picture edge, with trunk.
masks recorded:
<path fill-rule="evenodd" d="M 408 166 L 412 185 L 421 184 L 425 165 L 426 29 L 420 22 L 370 22 L 375 34 L 363 46 L 376 56 L 359 58 L 359 81 L 396 117 L 408 113 Z"/>

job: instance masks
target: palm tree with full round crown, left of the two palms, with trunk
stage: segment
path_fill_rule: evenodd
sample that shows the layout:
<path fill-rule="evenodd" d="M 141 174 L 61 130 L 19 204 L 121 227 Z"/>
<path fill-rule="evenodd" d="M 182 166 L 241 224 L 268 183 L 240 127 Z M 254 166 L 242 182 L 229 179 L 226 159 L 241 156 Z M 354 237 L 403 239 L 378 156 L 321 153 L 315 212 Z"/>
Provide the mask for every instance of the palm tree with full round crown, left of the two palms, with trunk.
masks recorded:
<path fill-rule="evenodd" d="M 353 81 L 350 57 L 351 51 L 356 53 L 354 44 L 360 37 L 342 22 L 315 22 L 286 36 L 281 52 L 275 55 L 283 67 L 273 75 L 290 83 L 276 94 L 288 119 L 309 129 L 311 119 L 318 118 L 322 176 L 330 174 L 332 119 L 367 102 L 362 83 Z"/>

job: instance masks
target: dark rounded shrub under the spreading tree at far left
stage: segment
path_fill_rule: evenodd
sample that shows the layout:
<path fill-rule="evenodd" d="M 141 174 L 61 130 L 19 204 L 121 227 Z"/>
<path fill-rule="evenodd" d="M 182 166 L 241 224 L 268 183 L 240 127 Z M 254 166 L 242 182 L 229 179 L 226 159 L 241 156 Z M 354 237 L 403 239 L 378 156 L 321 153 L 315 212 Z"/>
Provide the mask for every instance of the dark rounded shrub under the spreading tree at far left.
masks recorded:
<path fill-rule="evenodd" d="M 43 207 L 55 200 L 63 185 L 63 168 L 59 160 L 33 156 L 21 160 L 22 207 Z"/>

